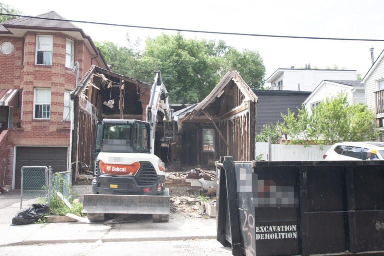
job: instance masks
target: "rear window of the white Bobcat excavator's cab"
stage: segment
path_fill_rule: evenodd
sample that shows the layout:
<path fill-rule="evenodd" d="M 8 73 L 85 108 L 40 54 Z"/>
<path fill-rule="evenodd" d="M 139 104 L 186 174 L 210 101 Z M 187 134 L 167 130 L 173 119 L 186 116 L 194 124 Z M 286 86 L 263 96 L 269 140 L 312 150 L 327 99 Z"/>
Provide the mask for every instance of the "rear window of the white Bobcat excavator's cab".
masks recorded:
<path fill-rule="evenodd" d="M 102 129 L 102 151 L 132 153 L 131 124 L 104 123 Z"/>

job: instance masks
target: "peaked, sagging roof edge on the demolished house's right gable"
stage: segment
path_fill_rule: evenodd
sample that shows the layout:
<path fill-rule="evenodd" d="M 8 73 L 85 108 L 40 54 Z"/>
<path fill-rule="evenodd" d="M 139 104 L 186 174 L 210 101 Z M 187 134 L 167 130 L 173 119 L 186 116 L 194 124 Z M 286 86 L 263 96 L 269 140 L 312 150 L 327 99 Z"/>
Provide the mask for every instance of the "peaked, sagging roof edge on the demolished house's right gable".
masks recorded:
<path fill-rule="evenodd" d="M 252 89 L 248 86 L 248 84 L 246 84 L 240 74 L 236 70 L 233 70 L 227 72 L 222 77 L 220 82 L 216 85 L 216 87 L 214 87 L 214 89 L 209 93 L 209 95 L 205 97 L 203 101 L 195 105 L 191 105 L 190 107 L 187 107 L 180 111 L 177 111 L 173 114 L 173 116 L 175 116 L 175 118 L 180 121 L 192 119 L 194 116 L 204 111 L 209 104 L 213 103 L 217 98 L 219 98 L 224 92 L 225 87 L 232 81 L 236 83 L 237 87 L 244 95 L 245 98 L 243 101 L 257 102 L 256 94 L 254 94 Z"/>

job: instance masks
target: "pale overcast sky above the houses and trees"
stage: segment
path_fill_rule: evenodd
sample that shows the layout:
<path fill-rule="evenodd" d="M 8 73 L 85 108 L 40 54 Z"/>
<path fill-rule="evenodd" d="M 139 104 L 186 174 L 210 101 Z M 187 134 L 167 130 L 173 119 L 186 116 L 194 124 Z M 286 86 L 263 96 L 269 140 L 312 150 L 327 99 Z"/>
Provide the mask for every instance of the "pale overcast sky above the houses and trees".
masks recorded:
<path fill-rule="evenodd" d="M 54 10 L 72 20 L 154 26 L 177 29 L 313 37 L 384 39 L 384 0 L 0 0 L 26 15 Z M 75 23 L 95 41 L 126 44 L 155 37 L 158 30 Z M 165 33 L 170 33 L 166 32 Z M 384 42 L 278 39 L 249 36 L 182 33 L 188 38 L 225 40 L 241 50 L 257 50 L 264 59 L 266 77 L 277 68 L 312 67 L 354 69 L 362 76 Z"/>

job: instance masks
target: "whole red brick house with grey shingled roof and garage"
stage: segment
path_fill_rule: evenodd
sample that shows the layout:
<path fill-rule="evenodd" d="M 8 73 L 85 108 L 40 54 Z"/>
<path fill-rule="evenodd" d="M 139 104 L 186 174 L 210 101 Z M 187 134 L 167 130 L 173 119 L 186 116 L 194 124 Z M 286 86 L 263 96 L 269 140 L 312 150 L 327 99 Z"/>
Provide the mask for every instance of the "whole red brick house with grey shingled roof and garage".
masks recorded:
<path fill-rule="evenodd" d="M 54 11 L 39 17 L 64 20 Z M 108 70 L 92 39 L 70 22 L 18 18 L 0 24 L 0 186 L 20 188 L 21 166 L 70 169 L 76 61 L 79 79 L 92 65 Z"/>

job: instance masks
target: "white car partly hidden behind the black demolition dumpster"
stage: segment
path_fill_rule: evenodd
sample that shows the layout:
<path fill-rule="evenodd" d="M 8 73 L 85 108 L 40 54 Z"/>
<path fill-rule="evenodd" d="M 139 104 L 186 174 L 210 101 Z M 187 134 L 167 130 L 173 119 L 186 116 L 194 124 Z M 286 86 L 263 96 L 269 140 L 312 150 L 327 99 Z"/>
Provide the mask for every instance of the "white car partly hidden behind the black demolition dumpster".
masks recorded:
<path fill-rule="evenodd" d="M 366 160 L 368 151 L 377 151 L 378 160 L 384 160 L 384 142 L 340 142 L 323 155 L 326 161 Z"/>

